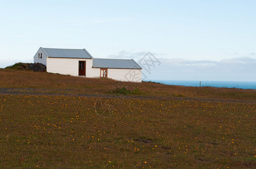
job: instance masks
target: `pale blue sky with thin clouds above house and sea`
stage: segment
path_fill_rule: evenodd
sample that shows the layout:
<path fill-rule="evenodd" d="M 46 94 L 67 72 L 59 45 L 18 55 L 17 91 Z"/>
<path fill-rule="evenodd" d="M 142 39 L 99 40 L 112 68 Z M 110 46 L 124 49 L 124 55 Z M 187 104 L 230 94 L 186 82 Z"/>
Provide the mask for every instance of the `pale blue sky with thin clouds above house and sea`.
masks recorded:
<path fill-rule="evenodd" d="M 0 68 L 39 47 L 150 51 L 150 79 L 256 81 L 256 1 L 0 1 Z"/>

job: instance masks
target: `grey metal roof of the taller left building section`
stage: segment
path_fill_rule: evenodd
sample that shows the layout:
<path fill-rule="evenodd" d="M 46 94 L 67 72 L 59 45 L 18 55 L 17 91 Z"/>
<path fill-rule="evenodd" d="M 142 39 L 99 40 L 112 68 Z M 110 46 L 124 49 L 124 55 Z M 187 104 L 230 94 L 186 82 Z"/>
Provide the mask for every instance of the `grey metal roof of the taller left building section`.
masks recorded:
<path fill-rule="evenodd" d="M 42 47 L 41 47 L 42 48 Z M 48 57 L 66 57 L 66 58 L 81 58 L 91 59 L 92 55 L 84 49 L 66 49 L 66 48 L 42 48 Z"/>

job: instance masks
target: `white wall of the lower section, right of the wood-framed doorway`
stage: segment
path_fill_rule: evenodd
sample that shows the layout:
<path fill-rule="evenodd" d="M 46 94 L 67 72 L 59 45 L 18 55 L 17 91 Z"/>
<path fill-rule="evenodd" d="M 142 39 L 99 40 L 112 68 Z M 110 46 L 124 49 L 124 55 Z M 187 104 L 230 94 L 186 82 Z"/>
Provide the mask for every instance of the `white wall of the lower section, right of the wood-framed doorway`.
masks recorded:
<path fill-rule="evenodd" d="M 142 82 L 141 69 L 108 69 L 108 78 L 118 81 Z"/>

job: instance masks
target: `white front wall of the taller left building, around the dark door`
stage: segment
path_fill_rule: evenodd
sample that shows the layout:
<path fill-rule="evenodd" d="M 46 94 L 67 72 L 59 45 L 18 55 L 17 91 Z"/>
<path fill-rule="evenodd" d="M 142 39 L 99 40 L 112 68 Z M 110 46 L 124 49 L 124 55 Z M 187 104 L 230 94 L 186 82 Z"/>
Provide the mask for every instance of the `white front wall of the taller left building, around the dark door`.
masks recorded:
<path fill-rule="evenodd" d="M 86 61 L 86 77 L 92 77 L 92 59 L 53 58 L 46 59 L 46 71 L 49 73 L 78 76 L 79 61 Z"/>

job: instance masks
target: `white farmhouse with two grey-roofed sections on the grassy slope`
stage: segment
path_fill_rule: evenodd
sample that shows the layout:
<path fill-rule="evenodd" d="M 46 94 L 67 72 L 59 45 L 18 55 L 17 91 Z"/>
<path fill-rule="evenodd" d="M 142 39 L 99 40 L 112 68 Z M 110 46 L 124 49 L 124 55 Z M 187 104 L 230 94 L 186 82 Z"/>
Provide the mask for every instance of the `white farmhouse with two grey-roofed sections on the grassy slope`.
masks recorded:
<path fill-rule="evenodd" d="M 142 67 L 133 59 L 96 59 L 86 49 L 40 47 L 34 63 L 44 64 L 49 73 L 142 82 Z"/>

